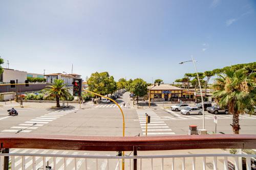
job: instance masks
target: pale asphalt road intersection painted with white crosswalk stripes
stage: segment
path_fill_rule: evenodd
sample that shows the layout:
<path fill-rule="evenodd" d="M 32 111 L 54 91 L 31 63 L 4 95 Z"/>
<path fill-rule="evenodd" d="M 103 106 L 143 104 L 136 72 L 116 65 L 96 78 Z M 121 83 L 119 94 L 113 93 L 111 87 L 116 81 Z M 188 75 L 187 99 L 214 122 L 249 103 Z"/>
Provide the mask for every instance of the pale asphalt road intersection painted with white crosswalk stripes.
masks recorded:
<path fill-rule="evenodd" d="M 126 95 L 126 94 L 125 94 Z M 118 101 L 120 106 L 125 101 L 127 104 L 130 99 L 124 96 Z M 131 102 L 132 104 L 132 102 Z M 104 106 L 104 107 L 103 107 Z M 108 106 L 108 107 L 107 107 Z M 88 136 L 122 136 L 122 115 L 117 107 L 111 107 L 112 104 L 99 105 L 87 104 L 69 109 L 53 108 L 17 108 L 18 116 L 8 116 L 8 108 L 0 108 L 0 135 L 1 134 L 56 134 L 56 135 L 88 135 Z M 172 112 L 161 109 L 160 107 L 145 108 L 125 108 L 122 106 L 125 118 L 125 136 L 145 135 L 145 113 L 151 115 L 151 123 L 148 124 L 148 136 L 155 135 L 185 135 L 188 134 L 189 125 L 197 125 L 202 128 L 202 115 L 182 115 L 179 112 Z M 205 114 L 205 126 L 208 132 L 215 131 L 214 114 Z M 256 116 L 244 115 L 240 117 L 241 134 L 256 134 Z M 217 133 L 232 134 L 229 124 L 232 123 L 232 115 L 219 114 Z M 57 154 L 83 154 L 83 155 L 116 155 L 115 152 L 73 152 L 73 151 L 53 151 L 53 150 L 28 150 L 12 149 L 15 153 L 57 153 Z M 167 155 L 167 154 L 191 154 L 191 153 L 210 153 L 211 151 L 159 151 L 159 152 L 140 152 L 139 155 Z M 223 153 L 222 150 L 215 150 L 215 153 Z M 130 154 L 130 153 L 126 153 Z M 26 158 L 27 159 L 27 158 Z M 40 159 L 37 161 L 40 162 Z M 52 160 L 49 160 L 50 164 Z M 77 160 L 79 166 L 84 166 L 84 160 Z M 20 158 L 17 167 L 21 167 Z M 30 158 L 26 161 L 26 166 L 31 166 Z M 58 160 L 58 166 L 61 169 L 63 160 Z M 91 168 L 95 168 L 96 160 L 90 162 Z M 158 162 L 158 161 L 157 161 Z M 211 161 L 207 159 L 207 162 Z M 74 160 L 69 159 L 71 165 Z M 98 169 L 106 169 L 106 160 L 99 160 Z M 159 165 L 160 165 L 159 161 Z M 220 160 L 219 163 L 223 163 Z M 138 163 L 139 164 L 139 163 Z M 110 163 L 111 169 L 118 169 L 118 161 L 113 160 Z M 129 168 L 129 162 L 126 162 L 126 168 Z M 200 163 L 198 164 L 198 166 Z M 42 165 L 38 163 L 38 167 Z M 143 166 L 148 166 L 148 163 Z M 190 164 L 187 164 L 189 167 Z M 89 165 L 88 165 L 89 167 Z M 168 167 L 167 165 L 165 166 Z M 177 164 L 177 169 L 181 168 L 181 163 Z M 68 168 L 72 169 L 72 168 Z"/>

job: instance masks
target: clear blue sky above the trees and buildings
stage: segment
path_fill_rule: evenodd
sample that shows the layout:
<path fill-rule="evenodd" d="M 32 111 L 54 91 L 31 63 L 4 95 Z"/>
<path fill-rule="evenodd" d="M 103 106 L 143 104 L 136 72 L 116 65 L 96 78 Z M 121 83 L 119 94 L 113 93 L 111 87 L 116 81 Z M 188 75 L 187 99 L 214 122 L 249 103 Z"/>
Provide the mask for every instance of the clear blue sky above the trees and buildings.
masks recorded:
<path fill-rule="evenodd" d="M 163 79 L 256 61 L 256 1 L 0 1 L 10 68 Z M 6 64 L 3 65 L 6 67 Z"/>

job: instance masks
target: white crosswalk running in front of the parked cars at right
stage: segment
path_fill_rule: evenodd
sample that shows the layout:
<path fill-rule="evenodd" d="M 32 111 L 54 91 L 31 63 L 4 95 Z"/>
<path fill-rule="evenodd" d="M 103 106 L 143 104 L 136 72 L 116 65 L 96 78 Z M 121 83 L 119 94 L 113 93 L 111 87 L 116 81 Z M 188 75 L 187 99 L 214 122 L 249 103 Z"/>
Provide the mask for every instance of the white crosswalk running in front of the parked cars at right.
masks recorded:
<path fill-rule="evenodd" d="M 174 116 L 163 116 L 163 120 L 168 120 L 168 119 L 173 119 L 173 120 L 183 120 L 183 119 L 202 119 L 203 118 L 203 115 L 180 115 L 178 113 L 175 113 L 173 112 L 172 110 L 169 110 L 169 109 L 164 109 L 165 111 L 167 111 L 168 113 L 172 113 Z M 204 118 L 205 119 L 214 119 L 214 114 L 212 115 L 204 115 Z M 218 116 L 218 119 L 219 118 L 232 118 L 233 115 L 231 114 L 226 114 L 226 115 L 217 115 Z M 239 115 L 240 119 L 256 119 L 256 116 L 252 116 L 252 115 Z"/>

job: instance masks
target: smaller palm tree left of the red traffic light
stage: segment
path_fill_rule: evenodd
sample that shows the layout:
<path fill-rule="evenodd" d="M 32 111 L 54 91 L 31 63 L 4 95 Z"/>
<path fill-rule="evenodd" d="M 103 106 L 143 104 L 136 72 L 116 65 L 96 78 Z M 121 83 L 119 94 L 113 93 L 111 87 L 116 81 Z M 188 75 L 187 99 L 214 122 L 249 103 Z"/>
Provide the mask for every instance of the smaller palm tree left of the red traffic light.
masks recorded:
<path fill-rule="evenodd" d="M 44 89 L 46 99 L 56 100 L 56 107 L 60 107 L 59 99 L 68 100 L 71 98 L 71 94 L 67 87 L 65 87 L 64 81 L 55 79 L 51 86 L 46 86 Z"/>

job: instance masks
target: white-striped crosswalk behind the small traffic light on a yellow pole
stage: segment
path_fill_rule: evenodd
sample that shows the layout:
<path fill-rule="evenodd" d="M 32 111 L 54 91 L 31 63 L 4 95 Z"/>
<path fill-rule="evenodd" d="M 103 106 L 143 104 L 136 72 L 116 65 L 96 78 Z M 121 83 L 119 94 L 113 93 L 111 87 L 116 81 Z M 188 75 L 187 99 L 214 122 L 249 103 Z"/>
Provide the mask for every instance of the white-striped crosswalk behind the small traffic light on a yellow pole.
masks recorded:
<path fill-rule="evenodd" d="M 147 124 L 147 135 L 175 135 L 162 118 L 152 110 L 137 110 L 137 115 L 140 122 L 140 127 L 143 135 L 146 135 L 146 116 L 145 113 L 151 116 L 150 124 Z"/>

